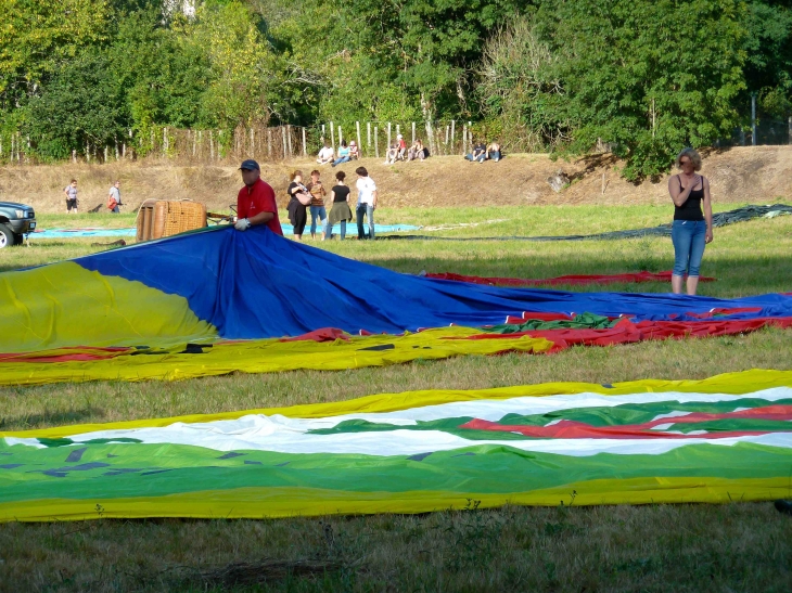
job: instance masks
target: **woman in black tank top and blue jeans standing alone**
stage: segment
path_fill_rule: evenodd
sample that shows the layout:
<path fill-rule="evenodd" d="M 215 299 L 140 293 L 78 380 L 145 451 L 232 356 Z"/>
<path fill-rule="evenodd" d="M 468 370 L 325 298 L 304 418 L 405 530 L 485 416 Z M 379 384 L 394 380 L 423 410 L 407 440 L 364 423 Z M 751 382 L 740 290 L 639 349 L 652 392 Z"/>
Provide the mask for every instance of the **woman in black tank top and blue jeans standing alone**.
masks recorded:
<path fill-rule="evenodd" d="M 674 294 L 681 294 L 687 274 L 687 293 L 694 295 L 699 286 L 699 267 L 704 256 L 704 246 L 713 240 L 710 181 L 698 175 L 701 170 L 701 156 L 693 149 L 680 152 L 676 166 L 681 172 L 668 180 L 668 193 L 674 202 L 670 232 L 674 243 L 674 272 L 670 287 Z"/>

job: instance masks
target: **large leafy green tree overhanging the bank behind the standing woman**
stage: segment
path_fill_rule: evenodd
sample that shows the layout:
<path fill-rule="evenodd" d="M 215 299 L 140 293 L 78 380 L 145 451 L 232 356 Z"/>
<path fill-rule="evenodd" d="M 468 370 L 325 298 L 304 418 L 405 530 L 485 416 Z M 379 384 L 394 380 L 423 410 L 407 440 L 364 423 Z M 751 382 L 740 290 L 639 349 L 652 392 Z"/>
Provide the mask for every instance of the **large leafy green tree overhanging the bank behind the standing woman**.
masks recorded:
<path fill-rule="evenodd" d="M 737 0 L 546 0 L 537 33 L 563 93 L 542 109 L 567 123 L 561 153 L 615 143 L 637 180 L 667 170 L 686 145 L 731 134 L 744 89 L 744 5 Z"/>

